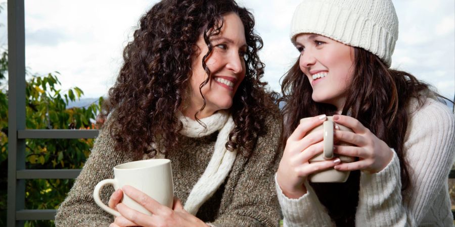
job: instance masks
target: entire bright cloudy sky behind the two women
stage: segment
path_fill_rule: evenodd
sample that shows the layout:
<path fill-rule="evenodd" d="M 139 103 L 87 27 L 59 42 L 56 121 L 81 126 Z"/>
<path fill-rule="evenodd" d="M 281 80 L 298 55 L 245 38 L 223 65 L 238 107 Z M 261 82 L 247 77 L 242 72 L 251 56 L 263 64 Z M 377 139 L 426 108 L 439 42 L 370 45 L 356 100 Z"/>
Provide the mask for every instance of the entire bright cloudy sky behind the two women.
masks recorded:
<path fill-rule="evenodd" d="M 7 48 L 7 13 L 0 13 L 0 47 Z M 26 66 L 59 71 L 62 89 L 77 86 L 85 97 L 105 95 L 121 66 L 121 51 L 139 18 L 157 1 L 26 0 Z M 279 91 L 280 78 L 298 57 L 289 24 L 300 0 L 239 0 L 252 10 L 264 40 L 264 80 Z M 127 3 L 127 4 L 126 4 Z M 399 38 L 392 68 L 414 74 L 446 97 L 455 93 L 455 1 L 394 0 Z"/>

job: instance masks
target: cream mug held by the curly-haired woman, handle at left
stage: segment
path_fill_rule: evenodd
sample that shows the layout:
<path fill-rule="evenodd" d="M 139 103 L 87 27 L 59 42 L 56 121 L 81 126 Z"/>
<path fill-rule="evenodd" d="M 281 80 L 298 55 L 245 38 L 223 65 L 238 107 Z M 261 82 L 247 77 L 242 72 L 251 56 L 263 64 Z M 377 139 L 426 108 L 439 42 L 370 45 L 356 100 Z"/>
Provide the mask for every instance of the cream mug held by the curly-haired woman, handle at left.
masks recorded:
<path fill-rule="evenodd" d="M 98 206 L 114 216 L 121 216 L 118 211 L 110 208 L 100 199 L 101 189 L 108 184 L 114 186 L 115 190 L 124 185 L 132 186 L 160 204 L 172 208 L 174 189 L 169 159 L 148 159 L 119 164 L 114 167 L 114 179 L 100 181 L 95 186 L 93 198 Z M 121 202 L 131 209 L 152 215 L 149 210 L 129 198 L 125 193 L 123 193 Z"/>

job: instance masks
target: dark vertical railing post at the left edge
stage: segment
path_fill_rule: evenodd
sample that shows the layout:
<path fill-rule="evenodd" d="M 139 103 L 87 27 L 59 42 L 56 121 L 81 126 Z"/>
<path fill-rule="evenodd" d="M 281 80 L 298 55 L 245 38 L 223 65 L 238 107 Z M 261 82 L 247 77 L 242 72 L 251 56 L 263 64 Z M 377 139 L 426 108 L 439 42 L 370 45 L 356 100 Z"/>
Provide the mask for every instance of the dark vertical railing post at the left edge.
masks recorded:
<path fill-rule="evenodd" d="M 25 18 L 24 1 L 8 0 L 8 227 L 23 226 L 16 211 L 25 207 L 25 180 L 16 171 L 25 169 Z"/>

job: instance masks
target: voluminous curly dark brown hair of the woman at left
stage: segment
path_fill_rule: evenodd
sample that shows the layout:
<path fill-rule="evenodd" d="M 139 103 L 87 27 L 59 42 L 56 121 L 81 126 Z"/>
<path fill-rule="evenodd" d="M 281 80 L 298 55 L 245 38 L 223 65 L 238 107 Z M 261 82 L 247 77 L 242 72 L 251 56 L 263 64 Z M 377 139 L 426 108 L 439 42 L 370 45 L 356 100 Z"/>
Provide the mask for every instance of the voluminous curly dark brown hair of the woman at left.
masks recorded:
<path fill-rule="evenodd" d="M 219 33 L 223 15 L 228 13 L 236 13 L 243 22 L 248 48 L 244 57 L 245 79 L 230 108 L 235 128 L 226 148 L 233 151 L 244 147 L 244 155 L 251 151 L 257 136 L 266 132 L 265 118 L 269 109 L 276 108 L 276 94 L 267 92 L 267 83 L 260 81 L 264 64 L 258 51 L 263 43 L 253 30 L 254 17 L 233 0 L 161 1 L 140 19 L 133 40 L 123 51 L 124 64 L 100 113 L 101 119 L 109 116 L 116 150 L 165 152 L 178 146 L 183 128 L 178 113 L 188 95 L 196 41 L 202 34 L 208 46 L 201 64 L 209 77 L 201 84 L 201 92 L 211 77 L 205 65 L 212 51 L 210 38 Z"/>

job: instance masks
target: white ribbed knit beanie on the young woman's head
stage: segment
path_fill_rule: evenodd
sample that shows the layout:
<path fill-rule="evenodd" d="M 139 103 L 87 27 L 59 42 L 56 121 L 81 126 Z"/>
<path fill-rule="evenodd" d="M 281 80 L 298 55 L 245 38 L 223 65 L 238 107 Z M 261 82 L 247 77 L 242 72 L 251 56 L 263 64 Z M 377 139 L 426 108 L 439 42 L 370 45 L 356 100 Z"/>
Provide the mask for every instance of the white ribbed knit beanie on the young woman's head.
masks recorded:
<path fill-rule="evenodd" d="M 315 33 L 377 55 L 388 67 L 398 38 L 391 0 L 304 0 L 291 22 L 291 41 Z"/>

